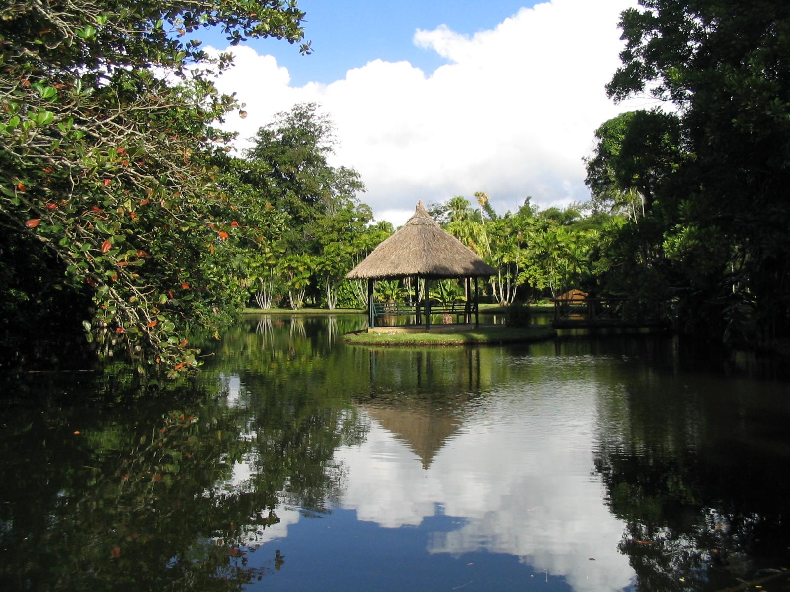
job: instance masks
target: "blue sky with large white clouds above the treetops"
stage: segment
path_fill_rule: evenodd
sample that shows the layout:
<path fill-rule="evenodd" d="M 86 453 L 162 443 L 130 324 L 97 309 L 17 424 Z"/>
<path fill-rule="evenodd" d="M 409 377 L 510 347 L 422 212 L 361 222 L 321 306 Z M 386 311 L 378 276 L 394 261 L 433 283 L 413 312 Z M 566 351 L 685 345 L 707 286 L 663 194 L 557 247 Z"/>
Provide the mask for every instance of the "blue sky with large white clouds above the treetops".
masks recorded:
<path fill-rule="evenodd" d="M 276 39 L 231 48 L 217 81 L 246 103 L 236 148 L 295 103 L 334 122 L 330 162 L 358 170 L 360 198 L 396 226 L 426 204 L 483 191 L 501 214 L 589 198 L 582 158 L 613 103 L 619 13 L 635 0 L 300 0 L 313 53 Z M 225 51 L 219 33 L 201 36 Z"/>

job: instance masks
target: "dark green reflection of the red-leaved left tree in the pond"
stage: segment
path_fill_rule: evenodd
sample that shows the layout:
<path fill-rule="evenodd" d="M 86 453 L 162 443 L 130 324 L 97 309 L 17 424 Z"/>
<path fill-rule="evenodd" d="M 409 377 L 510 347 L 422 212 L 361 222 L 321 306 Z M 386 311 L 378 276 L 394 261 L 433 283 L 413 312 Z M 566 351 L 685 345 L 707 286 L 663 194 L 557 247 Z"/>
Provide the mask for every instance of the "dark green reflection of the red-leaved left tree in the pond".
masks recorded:
<path fill-rule="evenodd" d="M 220 371 L 154 399 L 115 390 L 6 409 L 0 586 L 239 590 L 282 567 L 248 568 L 246 545 L 267 539 L 284 502 L 324 511 L 344 478 L 335 449 L 363 435 L 348 410 L 310 397 L 228 404 Z"/>

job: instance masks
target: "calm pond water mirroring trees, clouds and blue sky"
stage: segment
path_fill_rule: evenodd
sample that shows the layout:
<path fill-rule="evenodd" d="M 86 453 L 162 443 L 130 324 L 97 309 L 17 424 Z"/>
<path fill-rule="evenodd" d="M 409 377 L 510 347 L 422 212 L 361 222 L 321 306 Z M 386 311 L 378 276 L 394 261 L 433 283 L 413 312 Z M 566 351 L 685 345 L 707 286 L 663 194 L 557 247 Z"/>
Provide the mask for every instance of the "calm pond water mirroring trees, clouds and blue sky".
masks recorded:
<path fill-rule="evenodd" d="M 782 365 L 644 335 L 345 346 L 363 323 L 247 319 L 156 396 L 122 365 L 13 384 L 2 589 L 652 592 L 790 567 Z"/>

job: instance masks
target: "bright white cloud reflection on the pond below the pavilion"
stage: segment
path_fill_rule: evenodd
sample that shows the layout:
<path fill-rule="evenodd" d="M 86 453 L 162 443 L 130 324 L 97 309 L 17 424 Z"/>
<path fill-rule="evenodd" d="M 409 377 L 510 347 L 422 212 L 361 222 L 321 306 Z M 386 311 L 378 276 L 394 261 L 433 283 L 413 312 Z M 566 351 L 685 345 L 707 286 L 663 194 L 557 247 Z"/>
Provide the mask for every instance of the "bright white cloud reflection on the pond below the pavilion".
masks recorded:
<path fill-rule="evenodd" d="M 574 590 L 623 590 L 634 571 L 617 549 L 623 523 L 592 476 L 595 398 L 583 389 L 498 392 L 447 433 L 427 466 L 424 442 L 390 432 L 367 410 L 367 441 L 337 454 L 348 466 L 340 503 L 388 528 L 436 513 L 463 519 L 457 530 L 434 533 L 429 553 L 509 553 L 564 576 Z"/>

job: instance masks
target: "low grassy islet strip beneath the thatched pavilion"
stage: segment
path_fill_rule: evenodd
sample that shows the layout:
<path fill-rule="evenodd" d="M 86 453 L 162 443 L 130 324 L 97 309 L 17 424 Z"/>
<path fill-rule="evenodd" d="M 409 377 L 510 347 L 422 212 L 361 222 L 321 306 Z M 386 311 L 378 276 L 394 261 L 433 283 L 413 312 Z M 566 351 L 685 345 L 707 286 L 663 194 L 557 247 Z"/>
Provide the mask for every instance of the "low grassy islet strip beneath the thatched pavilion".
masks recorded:
<path fill-rule="evenodd" d="M 457 346 L 479 343 L 519 343 L 551 339 L 555 329 L 545 325 L 530 327 L 481 327 L 457 333 L 347 333 L 346 343 L 372 346 Z"/>

